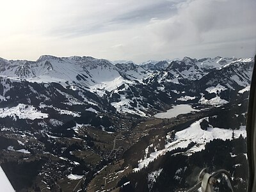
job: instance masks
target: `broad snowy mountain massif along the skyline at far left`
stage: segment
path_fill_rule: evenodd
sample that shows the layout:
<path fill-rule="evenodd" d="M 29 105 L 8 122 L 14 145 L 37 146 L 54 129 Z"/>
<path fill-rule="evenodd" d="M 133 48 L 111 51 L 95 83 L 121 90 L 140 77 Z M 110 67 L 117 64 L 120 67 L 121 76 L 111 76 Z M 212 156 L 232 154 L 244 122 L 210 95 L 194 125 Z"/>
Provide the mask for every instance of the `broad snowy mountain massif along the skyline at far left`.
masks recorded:
<path fill-rule="evenodd" d="M 118 68 L 107 60 L 73 56 L 40 56 L 37 61 L 3 61 L 1 76 L 35 82 L 77 82 L 90 85 L 120 76 Z"/>

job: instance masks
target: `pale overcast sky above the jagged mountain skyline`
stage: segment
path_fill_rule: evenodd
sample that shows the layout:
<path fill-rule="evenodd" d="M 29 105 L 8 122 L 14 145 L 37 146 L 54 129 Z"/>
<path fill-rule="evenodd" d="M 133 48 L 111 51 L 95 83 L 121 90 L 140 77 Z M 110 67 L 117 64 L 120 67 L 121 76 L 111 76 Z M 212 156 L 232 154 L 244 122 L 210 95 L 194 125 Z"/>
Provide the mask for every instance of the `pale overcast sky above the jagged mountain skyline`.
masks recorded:
<path fill-rule="evenodd" d="M 0 0 L 0 57 L 253 57 L 255 0 Z"/>

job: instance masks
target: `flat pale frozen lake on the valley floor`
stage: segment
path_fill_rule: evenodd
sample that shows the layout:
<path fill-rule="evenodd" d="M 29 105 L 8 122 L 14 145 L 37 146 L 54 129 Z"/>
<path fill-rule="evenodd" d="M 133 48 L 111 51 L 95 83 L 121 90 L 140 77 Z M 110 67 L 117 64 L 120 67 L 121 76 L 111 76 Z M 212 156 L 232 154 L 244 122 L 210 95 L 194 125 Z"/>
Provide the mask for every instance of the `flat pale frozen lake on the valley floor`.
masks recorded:
<path fill-rule="evenodd" d="M 188 104 L 181 104 L 181 105 L 173 106 L 172 109 L 169 109 L 168 111 L 166 111 L 164 113 L 157 113 L 154 116 L 156 118 L 172 118 L 172 117 L 178 116 L 180 114 L 190 113 L 192 111 L 200 111 L 200 110 L 193 109 Z"/>

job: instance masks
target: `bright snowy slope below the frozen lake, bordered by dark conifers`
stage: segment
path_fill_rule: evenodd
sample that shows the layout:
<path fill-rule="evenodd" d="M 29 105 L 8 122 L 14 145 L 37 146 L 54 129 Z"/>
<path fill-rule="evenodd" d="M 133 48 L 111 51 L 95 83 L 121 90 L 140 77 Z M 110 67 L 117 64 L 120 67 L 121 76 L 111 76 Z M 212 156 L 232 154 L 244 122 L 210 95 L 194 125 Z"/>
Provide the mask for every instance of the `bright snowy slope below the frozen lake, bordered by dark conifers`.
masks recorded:
<path fill-rule="evenodd" d="M 214 139 L 231 140 L 232 134 L 234 134 L 234 138 L 239 138 L 240 135 L 246 138 L 245 126 L 241 126 L 240 129 L 234 131 L 232 129 L 220 129 L 218 127 L 208 127 L 207 130 L 203 130 L 200 125 L 203 120 L 207 120 L 207 118 L 202 118 L 191 124 L 188 128 L 176 132 L 175 140 L 173 141 L 168 141 L 170 140 L 170 134 L 168 134 L 166 136 L 167 144 L 164 145 L 164 148 L 152 152 L 149 157 L 145 156 L 143 159 L 140 159 L 140 161 L 138 161 L 138 168 L 134 168 L 134 172 L 138 172 L 142 168 L 147 167 L 150 162 L 154 161 L 159 156 L 163 156 L 168 151 L 175 150 L 179 147 L 188 147 L 191 142 L 196 143 L 196 145 L 186 152 L 188 155 L 203 150 L 206 143 Z"/>

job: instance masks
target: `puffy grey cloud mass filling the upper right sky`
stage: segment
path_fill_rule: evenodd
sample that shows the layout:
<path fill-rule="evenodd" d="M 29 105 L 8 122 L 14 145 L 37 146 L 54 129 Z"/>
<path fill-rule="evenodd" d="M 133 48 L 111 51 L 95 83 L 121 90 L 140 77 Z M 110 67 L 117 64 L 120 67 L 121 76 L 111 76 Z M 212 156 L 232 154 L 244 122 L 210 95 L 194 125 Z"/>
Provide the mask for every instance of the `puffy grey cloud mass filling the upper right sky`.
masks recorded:
<path fill-rule="evenodd" d="M 256 2 L 250 0 L 186 1 L 179 4 L 177 15 L 154 20 L 148 25 L 148 31 L 152 31 L 157 42 L 164 42 L 165 48 L 205 45 L 207 49 L 206 44 L 245 38 L 255 43 L 255 10 Z"/>

